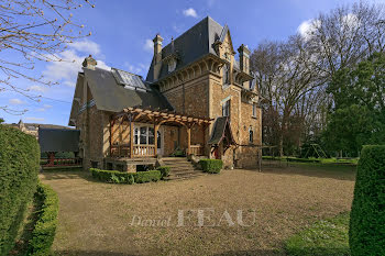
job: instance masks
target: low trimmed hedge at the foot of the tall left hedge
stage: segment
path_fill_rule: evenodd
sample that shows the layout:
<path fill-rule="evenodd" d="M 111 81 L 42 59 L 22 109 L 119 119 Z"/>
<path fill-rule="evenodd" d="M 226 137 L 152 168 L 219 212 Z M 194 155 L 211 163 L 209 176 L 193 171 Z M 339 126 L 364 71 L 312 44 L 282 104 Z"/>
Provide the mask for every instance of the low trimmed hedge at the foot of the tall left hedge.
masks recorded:
<path fill-rule="evenodd" d="M 32 232 L 32 238 L 29 241 L 29 255 L 45 256 L 50 255 L 55 238 L 58 198 L 50 186 L 43 183 L 37 186 L 35 197 L 41 203 L 40 214 Z"/>

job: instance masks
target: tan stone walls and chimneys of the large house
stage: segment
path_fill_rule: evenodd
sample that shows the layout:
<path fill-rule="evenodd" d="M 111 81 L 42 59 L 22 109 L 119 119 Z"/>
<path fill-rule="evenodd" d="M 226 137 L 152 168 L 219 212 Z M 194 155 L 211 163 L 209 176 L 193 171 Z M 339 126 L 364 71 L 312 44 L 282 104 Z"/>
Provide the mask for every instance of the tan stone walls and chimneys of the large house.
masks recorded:
<path fill-rule="evenodd" d="M 229 148 L 219 144 L 216 145 L 217 153 L 212 154 L 213 145 L 209 145 L 208 142 L 215 122 L 206 126 L 193 125 L 191 145 L 204 146 L 205 155 L 221 158 L 226 168 L 255 168 L 261 156 L 258 145 L 262 144 L 262 116 L 257 105 L 256 86 L 253 88 L 250 86 L 253 79 L 250 73 L 250 51 L 241 45 L 238 48 L 239 60 L 235 60 L 230 32 L 228 29 L 223 31 L 224 34 L 221 35 L 223 38 L 213 44 L 216 55 L 207 54 L 179 69 L 175 69 L 175 64 L 179 62 L 180 56 L 177 53 L 162 56 L 163 38 L 156 35 L 153 64 L 148 73 L 154 78 L 152 86 L 158 88 L 175 112 L 188 116 L 209 118 L 213 121 L 222 115 L 229 116 L 235 141 Z M 85 63 L 85 68 L 95 68 L 88 65 L 87 59 Z M 166 64 L 173 64 L 174 67 L 169 66 L 169 74 L 160 77 L 164 70 L 163 65 Z M 91 166 L 106 168 L 110 145 L 129 144 L 132 141 L 130 125 L 128 121 L 118 120 L 116 122 L 119 122 L 119 125 L 110 127 L 110 119 L 114 113 L 98 110 L 97 105 L 92 105 L 94 98 L 87 79 L 81 79 L 80 75 L 78 84 L 81 84 L 81 89 L 77 86 L 75 94 L 80 99 L 80 105 L 86 105 L 76 118 L 76 127 L 81 130 L 80 156 L 84 157 L 85 168 Z M 133 125 L 143 124 L 133 123 Z M 110 138 L 111 130 L 113 136 Z M 186 126 L 162 124 L 161 132 L 163 156 L 170 155 L 176 148 L 187 151 Z M 133 170 L 131 167 L 124 169 Z"/>

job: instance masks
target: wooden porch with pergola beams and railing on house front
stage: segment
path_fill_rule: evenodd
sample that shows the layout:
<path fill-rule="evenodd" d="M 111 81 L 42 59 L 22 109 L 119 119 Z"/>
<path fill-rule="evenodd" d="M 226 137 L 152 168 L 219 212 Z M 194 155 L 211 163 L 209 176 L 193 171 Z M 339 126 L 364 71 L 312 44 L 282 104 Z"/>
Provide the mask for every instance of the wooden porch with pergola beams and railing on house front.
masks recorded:
<path fill-rule="evenodd" d="M 165 145 L 170 142 L 166 137 L 169 131 L 178 132 L 185 137 L 187 143 L 177 147 L 184 151 L 185 155 L 206 155 L 205 145 L 206 130 L 211 123 L 211 119 L 197 118 L 168 111 L 128 108 L 121 113 L 111 115 L 109 135 L 109 158 L 155 158 L 157 156 L 168 156 Z M 179 134 L 184 132 L 184 134 Z M 199 143 L 197 137 L 200 137 Z M 168 140 L 168 141 L 167 141 Z M 174 145 L 176 147 L 176 145 Z"/>

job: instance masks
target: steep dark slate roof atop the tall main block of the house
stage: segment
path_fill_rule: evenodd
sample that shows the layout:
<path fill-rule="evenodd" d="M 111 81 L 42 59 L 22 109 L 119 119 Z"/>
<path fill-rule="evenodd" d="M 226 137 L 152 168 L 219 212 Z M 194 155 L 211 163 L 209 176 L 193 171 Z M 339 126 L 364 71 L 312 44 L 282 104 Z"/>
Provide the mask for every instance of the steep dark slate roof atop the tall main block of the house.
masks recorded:
<path fill-rule="evenodd" d="M 188 64 L 201 58 L 207 54 L 217 55 L 213 43 L 218 40 L 224 40 L 226 33 L 229 27 L 226 25 L 222 27 L 219 23 L 212 20 L 210 16 L 205 18 L 191 29 L 183 33 L 180 36 L 174 40 L 174 51 L 178 53 L 178 62 L 176 69 L 183 68 Z M 221 37 L 221 38 L 220 38 Z M 162 49 L 162 58 L 174 54 L 173 45 L 169 43 Z M 154 81 L 154 59 L 150 66 L 146 81 Z M 162 65 L 160 79 L 168 75 L 167 65 Z"/>

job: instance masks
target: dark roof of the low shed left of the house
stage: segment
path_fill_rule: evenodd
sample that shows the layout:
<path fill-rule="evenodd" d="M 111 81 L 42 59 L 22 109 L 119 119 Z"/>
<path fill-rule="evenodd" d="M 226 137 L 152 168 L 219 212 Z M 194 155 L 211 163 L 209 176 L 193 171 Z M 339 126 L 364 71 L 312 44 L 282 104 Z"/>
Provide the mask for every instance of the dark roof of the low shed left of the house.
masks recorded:
<path fill-rule="evenodd" d="M 44 152 L 79 152 L 79 130 L 38 129 L 38 144 Z"/>

